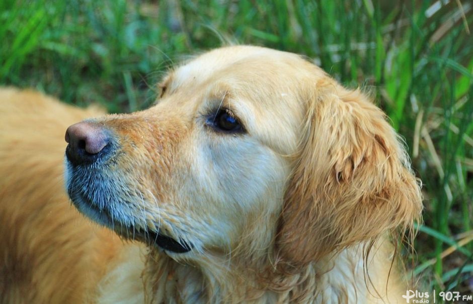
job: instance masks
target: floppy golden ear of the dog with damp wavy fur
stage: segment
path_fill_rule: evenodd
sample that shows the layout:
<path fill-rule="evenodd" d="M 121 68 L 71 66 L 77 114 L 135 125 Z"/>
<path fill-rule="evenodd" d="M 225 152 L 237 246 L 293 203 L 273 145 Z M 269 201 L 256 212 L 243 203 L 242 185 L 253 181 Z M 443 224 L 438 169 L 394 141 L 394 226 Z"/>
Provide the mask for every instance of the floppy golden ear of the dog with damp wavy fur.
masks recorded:
<path fill-rule="evenodd" d="M 296 267 L 412 230 L 422 211 L 409 158 L 382 111 L 330 78 L 309 94 L 277 236 L 280 261 Z"/>

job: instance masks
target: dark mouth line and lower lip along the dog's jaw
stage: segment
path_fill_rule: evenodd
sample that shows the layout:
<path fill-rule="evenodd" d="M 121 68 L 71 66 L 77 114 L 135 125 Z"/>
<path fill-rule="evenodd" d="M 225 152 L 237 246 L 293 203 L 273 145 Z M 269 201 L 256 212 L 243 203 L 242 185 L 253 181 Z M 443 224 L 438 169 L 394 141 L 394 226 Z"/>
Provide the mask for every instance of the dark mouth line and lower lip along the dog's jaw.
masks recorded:
<path fill-rule="evenodd" d="M 114 217 L 107 208 L 101 209 L 97 207 L 97 204 L 87 196 L 72 192 L 70 188 L 68 189 L 68 192 L 72 204 L 79 212 L 95 222 L 112 229 L 118 235 L 126 239 L 141 241 L 150 247 L 157 246 L 165 251 L 173 253 L 186 253 L 191 251 L 194 247 L 192 243 L 181 238 L 176 240 L 163 234 L 159 229 L 153 231 L 147 227 L 143 229 L 133 224 L 123 224 L 118 222 L 114 220 Z"/>

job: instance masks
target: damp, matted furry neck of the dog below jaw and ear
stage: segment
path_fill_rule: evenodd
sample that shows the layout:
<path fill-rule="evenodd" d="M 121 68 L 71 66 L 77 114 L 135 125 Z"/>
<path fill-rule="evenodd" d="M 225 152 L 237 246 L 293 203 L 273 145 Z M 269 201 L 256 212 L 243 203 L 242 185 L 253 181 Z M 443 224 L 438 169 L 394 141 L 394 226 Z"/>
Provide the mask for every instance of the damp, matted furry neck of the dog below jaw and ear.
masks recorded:
<path fill-rule="evenodd" d="M 340 303 L 363 303 L 368 291 L 363 258 L 357 253 L 345 250 L 335 258 L 283 274 L 269 261 L 245 263 L 206 256 L 185 264 L 151 251 L 142 273 L 145 302 L 324 303 L 337 298 Z"/>

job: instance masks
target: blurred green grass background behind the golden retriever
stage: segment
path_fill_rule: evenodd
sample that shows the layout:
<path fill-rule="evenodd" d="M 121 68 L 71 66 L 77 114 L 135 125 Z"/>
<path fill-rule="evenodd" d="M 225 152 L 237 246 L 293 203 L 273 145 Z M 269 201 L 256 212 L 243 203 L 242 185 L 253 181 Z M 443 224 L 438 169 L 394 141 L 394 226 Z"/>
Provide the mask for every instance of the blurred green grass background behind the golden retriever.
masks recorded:
<path fill-rule="evenodd" d="M 460 0 L 2 0 L 0 84 L 130 112 L 169 66 L 225 41 L 305 54 L 372 91 L 406 139 L 425 195 L 414 273 L 472 294 L 470 31 Z"/>

